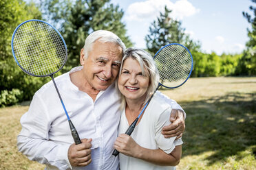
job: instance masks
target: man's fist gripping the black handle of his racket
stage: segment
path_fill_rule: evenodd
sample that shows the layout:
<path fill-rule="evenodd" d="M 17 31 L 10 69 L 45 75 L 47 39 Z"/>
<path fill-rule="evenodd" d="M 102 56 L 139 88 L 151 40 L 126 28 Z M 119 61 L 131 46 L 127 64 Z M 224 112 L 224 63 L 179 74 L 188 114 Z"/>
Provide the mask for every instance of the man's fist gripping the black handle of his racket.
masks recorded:
<path fill-rule="evenodd" d="M 76 145 L 73 143 L 68 149 L 68 159 L 72 167 L 85 167 L 92 162 L 91 159 L 91 147 L 92 138 L 83 138 L 81 144 Z"/>

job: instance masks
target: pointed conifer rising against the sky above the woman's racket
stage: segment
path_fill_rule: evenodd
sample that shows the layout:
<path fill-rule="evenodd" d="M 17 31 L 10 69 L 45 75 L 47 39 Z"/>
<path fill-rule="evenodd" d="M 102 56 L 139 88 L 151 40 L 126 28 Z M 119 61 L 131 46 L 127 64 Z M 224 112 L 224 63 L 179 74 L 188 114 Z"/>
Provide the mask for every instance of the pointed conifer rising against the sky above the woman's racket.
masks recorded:
<path fill-rule="evenodd" d="M 149 34 L 145 36 L 147 49 L 151 53 L 156 53 L 164 45 L 170 43 L 179 43 L 185 45 L 189 50 L 198 51 L 199 42 L 191 40 L 189 35 L 184 33 L 185 29 L 181 27 L 182 23 L 169 16 L 171 10 L 165 6 L 164 13 L 160 12 L 157 21 L 153 21 L 149 27 Z"/>

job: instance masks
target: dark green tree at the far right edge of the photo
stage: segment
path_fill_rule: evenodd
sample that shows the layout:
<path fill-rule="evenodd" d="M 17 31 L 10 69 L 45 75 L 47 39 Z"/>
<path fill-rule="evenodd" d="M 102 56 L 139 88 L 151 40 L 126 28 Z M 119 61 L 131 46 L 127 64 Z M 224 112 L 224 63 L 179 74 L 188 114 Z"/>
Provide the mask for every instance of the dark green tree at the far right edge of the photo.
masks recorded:
<path fill-rule="evenodd" d="M 256 0 L 252 0 L 252 2 L 256 3 Z M 253 11 L 254 18 L 248 12 L 242 12 L 252 28 L 247 29 L 249 38 L 246 42 L 247 49 L 239 61 L 235 71 L 236 75 L 256 75 L 256 8 L 251 5 L 249 9 Z"/>

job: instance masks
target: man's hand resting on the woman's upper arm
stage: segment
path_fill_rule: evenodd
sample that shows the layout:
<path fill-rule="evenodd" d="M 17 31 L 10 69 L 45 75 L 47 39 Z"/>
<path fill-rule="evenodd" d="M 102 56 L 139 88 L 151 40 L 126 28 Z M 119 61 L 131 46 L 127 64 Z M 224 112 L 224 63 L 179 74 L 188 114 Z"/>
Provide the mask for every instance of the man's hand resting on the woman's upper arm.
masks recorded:
<path fill-rule="evenodd" d="M 165 138 L 171 138 L 173 136 L 177 136 L 176 139 L 181 138 L 182 133 L 185 131 L 185 121 L 183 115 L 183 111 L 180 109 L 171 110 L 171 124 L 162 127 L 162 134 Z"/>

